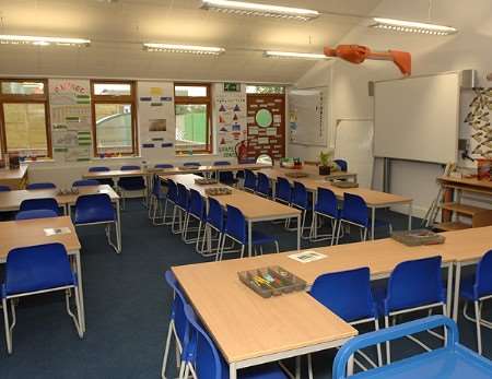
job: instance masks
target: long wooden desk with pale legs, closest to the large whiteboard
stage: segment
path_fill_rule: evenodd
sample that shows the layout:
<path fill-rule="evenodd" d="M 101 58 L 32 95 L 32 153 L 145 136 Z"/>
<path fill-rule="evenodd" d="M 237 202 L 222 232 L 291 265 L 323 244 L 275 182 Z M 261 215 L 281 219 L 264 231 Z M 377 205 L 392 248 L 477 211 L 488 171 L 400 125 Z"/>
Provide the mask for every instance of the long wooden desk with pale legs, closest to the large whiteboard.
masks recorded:
<path fill-rule="evenodd" d="M 411 230 L 412 228 L 412 202 L 413 200 L 408 197 L 402 197 L 399 194 L 394 193 L 386 193 L 380 191 L 374 191 L 368 188 L 339 188 L 332 186 L 329 181 L 326 181 L 325 179 L 320 178 L 290 178 L 285 176 L 285 170 L 278 169 L 278 168 L 270 168 L 270 169 L 262 169 L 261 173 L 267 175 L 270 179 L 277 180 L 277 178 L 283 177 L 288 179 L 289 181 L 293 182 L 298 181 L 303 183 L 306 189 L 315 194 L 315 200 L 317 196 L 318 188 L 326 188 L 331 190 L 335 196 L 339 200 L 343 200 L 343 193 L 353 193 L 362 197 L 364 201 L 366 202 L 367 206 L 371 209 L 371 217 L 372 217 L 372 227 L 371 227 L 371 239 L 374 239 L 374 229 L 375 229 L 375 223 L 376 223 L 376 209 L 378 208 L 388 208 L 391 205 L 397 204 L 407 204 L 408 205 L 408 229 Z M 351 175 L 351 174 L 349 174 Z M 314 206 L 315 201 L 313 202 Z M 316 228 L 315 228 L 316 230 Z"/>

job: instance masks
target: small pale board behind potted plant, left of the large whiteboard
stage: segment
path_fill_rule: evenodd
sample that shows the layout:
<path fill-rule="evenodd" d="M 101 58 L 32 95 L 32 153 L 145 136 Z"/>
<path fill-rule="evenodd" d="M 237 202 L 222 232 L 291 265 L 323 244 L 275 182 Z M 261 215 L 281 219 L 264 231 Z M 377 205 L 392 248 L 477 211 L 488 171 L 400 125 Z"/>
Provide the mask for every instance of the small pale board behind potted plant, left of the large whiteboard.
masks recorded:
<path fill-rule="evenodd" d="M 373 121 L 340 120 L 337 126 L 335 157 L 347 161 L 350 173 L 358 173 L 361 187 L 373 183 Z"/>

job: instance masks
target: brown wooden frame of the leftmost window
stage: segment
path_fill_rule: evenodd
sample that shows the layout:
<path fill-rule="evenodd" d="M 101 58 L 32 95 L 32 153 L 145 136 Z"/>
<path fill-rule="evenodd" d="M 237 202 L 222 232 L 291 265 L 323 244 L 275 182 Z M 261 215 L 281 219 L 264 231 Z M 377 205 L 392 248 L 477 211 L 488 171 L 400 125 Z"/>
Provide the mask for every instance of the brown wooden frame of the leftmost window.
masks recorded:
<path fill-rule="evenodd" d="M 21 94 L 3 94 L 1 90 L 1 84 L 4 82 L 39 82 L 43 83 L 43 95 L 32 94 L 32 95 L 21 95 Z M 52 146 L 51 146 L 51 119 L 50 119 L 50 107 L 49 107 L 49 93 L 48 93 L 48 80 L 47 79 L 30 79 L 30 78 L 0 78 L 0 153 L 1 156 L 5 154 L 12 154 L 23 151 L 20 149 L 17 151 L 9 152 L 7 145 L 7 125 L 5 115 L 3 111 L 3 105 L 7 104 L 44 104 L 45 106 L 45 132 L 46 132 L 46 155 L 35 155 L 37 158 L 52 158 Z"/>

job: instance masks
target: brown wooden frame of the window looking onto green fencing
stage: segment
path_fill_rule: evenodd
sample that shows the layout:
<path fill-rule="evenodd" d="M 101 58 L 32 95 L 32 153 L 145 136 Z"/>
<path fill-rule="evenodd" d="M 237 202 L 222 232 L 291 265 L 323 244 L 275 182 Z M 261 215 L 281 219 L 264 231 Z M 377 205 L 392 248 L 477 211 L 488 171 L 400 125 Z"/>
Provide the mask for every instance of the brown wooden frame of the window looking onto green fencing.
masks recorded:
<path fill-rule="evenodd" d="M 176 87 L 178 86 L 196 86 L 196 87 L 207 87 L 207 96 L 178 96 L 176 95 Z M 213 123 L 212 123 L 212 85 L 211 83 L 186 83 L 186 82 L 175 82 L 174 83 L 174 115 L 176 117 L 176 105 L 206 105 L 207 106 L 207 131 L 208 142 L 206 149 L 192 150 L 197 154 L 213 154 Z M 175 144 L 177 140 L 175 139 Z M 177 150 L 175 147 L 175 154 L 181 156 L 187 154 L 188 150 Z"/>

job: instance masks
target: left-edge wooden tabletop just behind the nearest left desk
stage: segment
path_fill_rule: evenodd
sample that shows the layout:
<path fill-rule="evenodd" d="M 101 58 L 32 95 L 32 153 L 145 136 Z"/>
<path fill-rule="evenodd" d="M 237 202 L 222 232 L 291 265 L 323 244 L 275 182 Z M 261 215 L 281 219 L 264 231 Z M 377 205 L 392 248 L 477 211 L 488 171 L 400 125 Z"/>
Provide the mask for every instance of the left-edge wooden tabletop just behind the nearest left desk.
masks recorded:
<path fill-rule="evenodd" d="M 0 192 L 0 211 L 16 211 L 27 199 L 55 198 L 59 205 L 74 204 L 82 194 L 107 193 L 112 201 L 119 199 L 115 190 L 107 186 L 79 187 L 78 194 L 58 194 L 58 189 L 15 190 Z"/>

